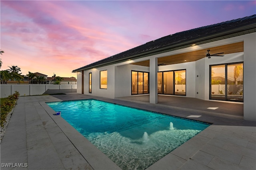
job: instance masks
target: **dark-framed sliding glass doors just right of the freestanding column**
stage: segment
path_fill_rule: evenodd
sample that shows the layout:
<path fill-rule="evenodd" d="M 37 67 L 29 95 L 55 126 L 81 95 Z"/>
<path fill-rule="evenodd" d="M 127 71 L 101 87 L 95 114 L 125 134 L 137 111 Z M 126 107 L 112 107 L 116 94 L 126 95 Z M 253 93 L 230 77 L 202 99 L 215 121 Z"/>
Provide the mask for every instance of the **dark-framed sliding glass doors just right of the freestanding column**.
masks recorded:
<path fill-rule="evenodd" d="M 186 70 L 158 72 L 158 94 L 186 96 Z"/>

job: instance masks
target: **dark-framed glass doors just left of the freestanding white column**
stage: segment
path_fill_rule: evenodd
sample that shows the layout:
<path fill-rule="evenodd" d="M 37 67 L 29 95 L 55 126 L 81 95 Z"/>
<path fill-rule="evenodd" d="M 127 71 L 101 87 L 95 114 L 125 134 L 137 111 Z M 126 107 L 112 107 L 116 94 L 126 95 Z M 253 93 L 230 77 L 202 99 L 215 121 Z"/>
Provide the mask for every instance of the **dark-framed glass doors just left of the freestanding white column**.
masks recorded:
<path fill-rule="evenodd" d="M 132 71 L 132 95 L 148 93 L 148 72 Z"/>

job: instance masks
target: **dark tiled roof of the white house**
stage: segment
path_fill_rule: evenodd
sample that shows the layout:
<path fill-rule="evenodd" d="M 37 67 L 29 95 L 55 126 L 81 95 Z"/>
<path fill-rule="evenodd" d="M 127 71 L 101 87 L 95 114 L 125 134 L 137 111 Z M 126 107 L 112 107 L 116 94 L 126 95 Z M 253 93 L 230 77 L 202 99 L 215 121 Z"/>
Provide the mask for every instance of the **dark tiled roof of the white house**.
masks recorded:
<path fill-rule="evenodd" d="M 216 37 L 230 35 L 230 34 L 238 33 L 245 30 L 253 29 L 252 32 L 255 32 L 255 28 L 256 28 L 256 14 L 252 16 L 244 17 L 244 18 L 239 18 L 236 20 L 230 20 L 230 21 L 225 21 L 221 23 L 216 23 L 213 25 L 190 29 L 188 31 L 182 31 L 172 35 L 167 35 L 165 37 L 156 39 L 154 41 L 150 41 L 148 43 L 145 43 L 138 47 L 134 47 L 122 53 L 110 56 L 106 59 L 102 59 L 100 61 L 96 61 L 94 63 L 83 66 L 81 68 L 77 68 L 76 70 L 73 70 L 73 72 L 87 70 L 87 69 L 104 66 L 104 65 L 110 65 L 114 63 L 119 63 L 127 59 L 137 59 L 141 57 L 146 57 L 149 55 L 157 54 L 157 52 L 158 53 L 167 52 L 167 51 L 164 51 L 167 49 L 168 51 L 172 51 L 172 50 L 175 50 L 175 48 L 181 47 L 181 46 L 185 48 L 189 46 L 184 46 L 184 45 L 188 45 L 188 44 L 191 45 L 191 43 L 200 42 L 199 44 L 202 44 L 202 43 L 206 43 L 202 41 L 206 41 L 208 39 L 212 39 L 211 41 L 217 41 L 219 39 L 215 39 Z M 251 32 L 236 34 L 236 35 L 233 35 L 233 37 L 238 35 L 243 35 L 246 33 L 251 33 Z M 225 37 L 222 39 L 225 39 Z"/>

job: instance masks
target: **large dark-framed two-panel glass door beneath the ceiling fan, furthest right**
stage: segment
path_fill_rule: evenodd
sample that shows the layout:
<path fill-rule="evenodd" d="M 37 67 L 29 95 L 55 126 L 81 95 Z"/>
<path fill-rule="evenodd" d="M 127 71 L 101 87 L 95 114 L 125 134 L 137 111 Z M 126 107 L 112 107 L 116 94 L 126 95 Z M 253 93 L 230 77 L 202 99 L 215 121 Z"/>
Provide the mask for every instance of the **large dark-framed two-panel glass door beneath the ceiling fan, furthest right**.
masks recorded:
<path fill-rule="evenodd" d="M 244 101 L 244 64 L 210 65 L 210 99 Z"/>

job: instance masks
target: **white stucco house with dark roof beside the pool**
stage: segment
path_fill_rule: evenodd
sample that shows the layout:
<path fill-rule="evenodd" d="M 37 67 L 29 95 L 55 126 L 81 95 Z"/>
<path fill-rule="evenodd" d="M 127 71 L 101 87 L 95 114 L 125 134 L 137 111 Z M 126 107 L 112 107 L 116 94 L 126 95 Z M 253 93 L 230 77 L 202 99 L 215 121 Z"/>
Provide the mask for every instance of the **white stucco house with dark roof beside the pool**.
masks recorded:
<path fill-rule="evenodd" d="M 73 70 L 77 93 L 240 102 L 256 121 L 256 15 L 150 41 Z"/>

